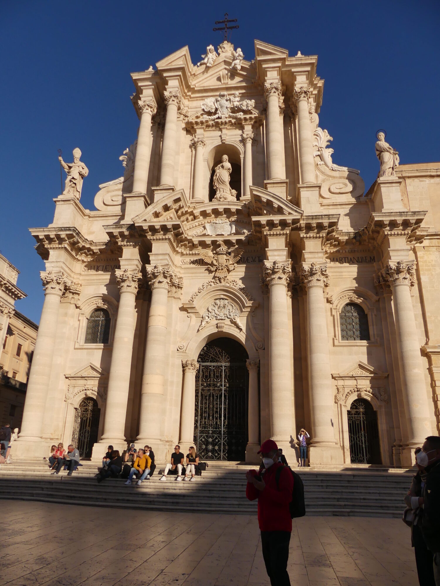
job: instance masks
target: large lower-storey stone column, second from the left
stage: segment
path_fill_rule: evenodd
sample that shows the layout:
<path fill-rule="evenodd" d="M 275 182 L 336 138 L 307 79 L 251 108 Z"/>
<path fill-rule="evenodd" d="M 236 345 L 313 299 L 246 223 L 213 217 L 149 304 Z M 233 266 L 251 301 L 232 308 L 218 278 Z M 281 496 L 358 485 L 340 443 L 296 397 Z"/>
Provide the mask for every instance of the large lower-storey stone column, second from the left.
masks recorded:
<path fill-rule="evenodd" d="M 125 442 L 124 427 L 134 339 L 134 305 L 138 281 L 142 275 L 137 270 L 129 271 L 128 269 L 116 269 L 114 272 L 120 298 L 111 352 L 104 432 L 99 443 L 113 444 L 115 449 L 119 449 L 116 445 Z"/>

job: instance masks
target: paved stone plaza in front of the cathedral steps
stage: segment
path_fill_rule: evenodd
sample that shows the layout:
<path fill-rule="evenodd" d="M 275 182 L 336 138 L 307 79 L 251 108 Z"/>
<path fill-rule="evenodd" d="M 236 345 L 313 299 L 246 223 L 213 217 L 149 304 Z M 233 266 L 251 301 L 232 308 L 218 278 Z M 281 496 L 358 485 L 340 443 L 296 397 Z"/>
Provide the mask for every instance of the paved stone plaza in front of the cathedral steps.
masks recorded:
<path fill-rule="evenodd" d="M 2 584 L 269 584 L 256 517 L 178 506 L 173 515 L 4 500 Z M 292 586 L 418 584 L 409 529 L 398 519 L 297 520 L 289 574 Z"/>

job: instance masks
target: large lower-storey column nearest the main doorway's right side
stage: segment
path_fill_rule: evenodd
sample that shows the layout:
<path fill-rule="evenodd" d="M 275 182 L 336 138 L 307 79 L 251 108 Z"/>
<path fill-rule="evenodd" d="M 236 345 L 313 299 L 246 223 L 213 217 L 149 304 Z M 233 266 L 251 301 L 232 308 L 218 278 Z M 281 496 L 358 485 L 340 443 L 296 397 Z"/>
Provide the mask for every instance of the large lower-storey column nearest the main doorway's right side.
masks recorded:
<path fill-rule="evenodd" d="M 292 376 L 287 319 L 287 283 L 290 261 L 265 263 L 264 280 L 269 287 L 269 389 L 270 437 L 283 449 L 289 446 L 292 421 Z"/>

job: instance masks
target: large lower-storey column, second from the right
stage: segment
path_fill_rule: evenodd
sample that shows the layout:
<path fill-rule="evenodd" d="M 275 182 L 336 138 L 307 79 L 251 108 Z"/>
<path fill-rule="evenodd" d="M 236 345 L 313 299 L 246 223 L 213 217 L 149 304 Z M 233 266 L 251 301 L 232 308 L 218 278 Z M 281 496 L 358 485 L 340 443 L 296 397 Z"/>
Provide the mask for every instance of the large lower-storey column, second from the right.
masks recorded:
<path fill-rule="evenodd" d="M 324 287 L 329 284 L 327 264 L 304 265 L 301 280 L 307 291 L 307 362 L 312 421 L 310 462 L 336 464 L 342 461 L 342 452 L 339 448 L 336 449 L 333 431 L 334 395 L 331 388 L 329 338 L 324 303 Z"/>

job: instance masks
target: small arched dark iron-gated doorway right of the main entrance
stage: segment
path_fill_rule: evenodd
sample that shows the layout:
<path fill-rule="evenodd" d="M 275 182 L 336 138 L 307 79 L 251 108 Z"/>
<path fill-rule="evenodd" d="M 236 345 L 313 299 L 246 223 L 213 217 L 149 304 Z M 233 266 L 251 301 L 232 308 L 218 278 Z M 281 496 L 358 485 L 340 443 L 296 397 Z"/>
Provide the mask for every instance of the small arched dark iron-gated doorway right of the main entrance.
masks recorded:
<path fill-rule="evenodd" d="M 377 413 L 365 399 L 356 399 L 347 411 L 351 464 L 381 464 Z"/>

